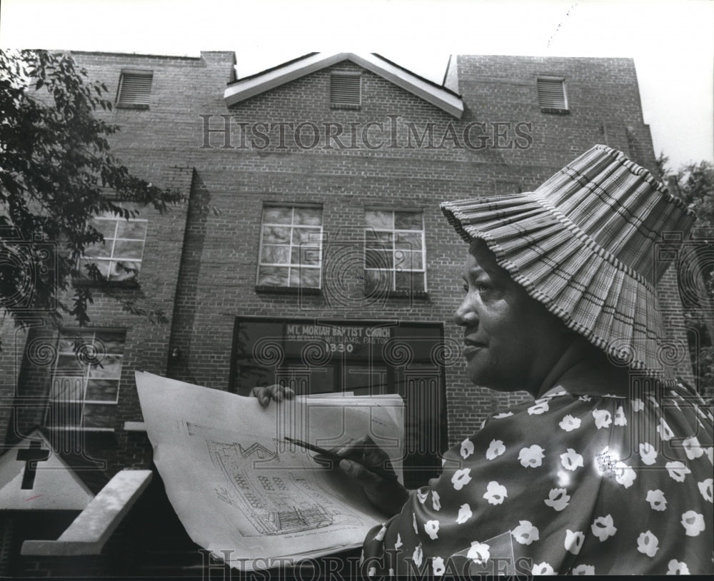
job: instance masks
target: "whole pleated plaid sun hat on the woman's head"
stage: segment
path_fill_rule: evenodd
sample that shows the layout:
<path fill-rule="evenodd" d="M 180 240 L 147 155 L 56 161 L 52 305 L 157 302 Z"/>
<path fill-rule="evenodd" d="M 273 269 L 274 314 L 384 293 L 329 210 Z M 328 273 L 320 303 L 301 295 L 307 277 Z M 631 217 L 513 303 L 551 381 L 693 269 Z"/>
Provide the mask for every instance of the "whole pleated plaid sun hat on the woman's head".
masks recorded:
<path fill-rule="evenodd" d="M 533 192 L 441 210 L 568 328 L 619 363 L 672 379 L 655 284 L 674 253 L 655 250 L 662 233 L 684 239 L 695 215 L 645 168 L 597 145 Z"/>

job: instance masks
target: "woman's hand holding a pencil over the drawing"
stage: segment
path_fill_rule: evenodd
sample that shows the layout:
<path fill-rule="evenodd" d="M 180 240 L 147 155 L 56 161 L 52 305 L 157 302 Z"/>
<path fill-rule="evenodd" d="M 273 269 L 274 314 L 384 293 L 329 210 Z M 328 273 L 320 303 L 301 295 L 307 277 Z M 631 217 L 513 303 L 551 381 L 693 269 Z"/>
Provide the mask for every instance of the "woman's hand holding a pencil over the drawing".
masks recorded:
<path fill-rule="evenodd" d="M 409 497 L 409 491 L 396 478 L 383 478 L 369 470 L 378 467 L 394 473 L 389 457 L 369 436 L 330 450 L 344 458 L 338 470 L 354 478 L 369 501 L 386 515 L 396 515 Z M 318 456 L 318 460 L 320 457 Z"/>

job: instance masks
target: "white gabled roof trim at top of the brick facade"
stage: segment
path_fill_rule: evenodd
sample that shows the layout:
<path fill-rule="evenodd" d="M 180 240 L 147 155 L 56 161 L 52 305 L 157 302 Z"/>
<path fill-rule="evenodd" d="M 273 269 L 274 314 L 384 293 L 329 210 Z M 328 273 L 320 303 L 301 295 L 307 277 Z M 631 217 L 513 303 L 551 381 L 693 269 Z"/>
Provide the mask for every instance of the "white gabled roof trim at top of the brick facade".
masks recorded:
<path fill-rule="evenodd" d="M 298 59 L 285 66 L 278 66 L 276 69 L 248 77 L 247 79 L 239 79 L 226 88 L 226 91 L 223 92 L 223 99 L 226 101 L 226 106 L 230 107 L 231 105 L 245 101 L 247 98 L 261 94 L 264 91 L 269 91 L 270 89 L 275 89 L 289 81 L 294 81 L 302 76 L 325 69 L 328 66 L 332 66 L 346 59 L 363 67 L 363 69 L 367 69 L 391 81 L 396 86 L 409 91 L 411 94 L 423 98 L 424 101 L 428 101 L 428 103 L 440 108 L 442 111 L 446 111 L 446 113 L 456 118 L 461 118 L 463 114 L 463 101 L 461 101 L 461 97 L 454 95 L 451 91 L 428 83 L 415 74 L 400 69 L 398 66 L 394 66 L 374 54 L 313 54 L 312 56 L 307 56 L 305 59 Z"/>

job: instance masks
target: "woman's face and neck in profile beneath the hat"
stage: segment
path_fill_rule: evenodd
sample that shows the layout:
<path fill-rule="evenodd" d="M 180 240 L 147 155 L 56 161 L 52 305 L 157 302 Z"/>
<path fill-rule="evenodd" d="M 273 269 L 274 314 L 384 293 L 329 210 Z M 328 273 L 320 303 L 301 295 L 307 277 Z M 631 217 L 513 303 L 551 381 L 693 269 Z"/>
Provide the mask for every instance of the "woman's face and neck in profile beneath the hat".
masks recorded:
<path fill-rule="evenodd" d="M 476 385 L 535 395 L 568 346 L 564 323 L 548 313 L 498 266 L 482 241 L 473 241 L 454 314 L 463 327 L 468 376 Z"/>

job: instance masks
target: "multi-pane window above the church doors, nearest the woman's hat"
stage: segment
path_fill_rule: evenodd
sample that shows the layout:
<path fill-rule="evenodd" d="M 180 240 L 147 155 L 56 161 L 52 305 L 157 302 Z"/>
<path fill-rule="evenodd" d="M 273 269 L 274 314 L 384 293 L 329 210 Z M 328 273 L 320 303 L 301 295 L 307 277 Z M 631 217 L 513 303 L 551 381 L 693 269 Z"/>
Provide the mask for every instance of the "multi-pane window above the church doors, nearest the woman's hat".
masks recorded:
<path fill-rule="evenodd" d="M 365 293 L 426 291 L 422 213 L 368 210 L 365 225 Z"/>

